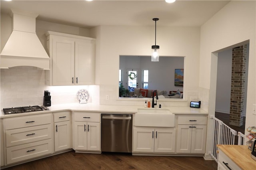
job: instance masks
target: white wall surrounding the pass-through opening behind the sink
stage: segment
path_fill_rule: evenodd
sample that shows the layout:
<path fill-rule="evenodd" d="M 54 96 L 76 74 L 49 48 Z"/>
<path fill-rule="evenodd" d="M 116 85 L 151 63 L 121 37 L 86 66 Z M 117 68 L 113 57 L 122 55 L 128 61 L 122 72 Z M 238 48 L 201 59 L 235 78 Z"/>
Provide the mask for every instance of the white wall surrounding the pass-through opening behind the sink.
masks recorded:
<path fill-rule="evenodd" d="M 92 30 L 96 39 L 96 77 L 100 85 L 100 104 L 110 105 L 143 105 L 143 101 L 118 100 L 118 70 L 119 55 L 150 55 L 154 44 L 154 28 L 142 26 L 99 26 Z M 185 56 L 184 61 L 184 97 L 198 96 L 199 73 L 199 28 L 157 28 L 157 44 L 160 45 L 160 55 Z M 97 62 L 99 61 L 99 62 Z M 109 81 L 109 73 L 112 81 Z M 105 100 L 109 95 L 109 100 Z M 163 102 L 164 105 L 174 105 L 175 102 Z M 161 103 L 162 104 L 162 103 Z M 175 103 L 177 104 L 177 103 Z M 179 104 L 179 103 L 178 103 Z M 177 105 L 178 105 L 177 104 Z M 188 106 L 188 103 L 185 103 Z"/>

